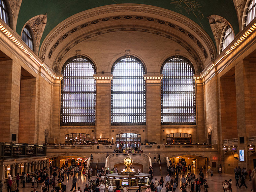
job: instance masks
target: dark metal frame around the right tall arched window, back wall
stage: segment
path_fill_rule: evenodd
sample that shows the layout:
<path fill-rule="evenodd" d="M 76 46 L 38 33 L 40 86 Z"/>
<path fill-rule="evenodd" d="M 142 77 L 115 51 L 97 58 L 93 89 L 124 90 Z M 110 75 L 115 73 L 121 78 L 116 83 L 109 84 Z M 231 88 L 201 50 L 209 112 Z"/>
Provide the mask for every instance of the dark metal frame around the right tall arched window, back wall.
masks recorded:
<path fill-rule="evenodd" d="M 164 66 L 168 63 L 168 62 L 170 62 L 170 60 L 171 59 L 174 59 L 174 58 L 178 58 L 178 59 L 183 59 L 184 60 L 184 63 L 187 63 L 189 66 L 190 66 L 190 69 L 192 70 L 191 72 L 192 72 L 192 75 L 193 74 L 195 74 L 195 69 L 194 69 L 194 66 L 193 66 L 193 64 L 187 59 L 187 58 L 185 58 L 185 57 L 182 57 L 182 56 L 172 56 L 172 57 L 169 57 L 168 59 L 166 59 L 164 62 L 163 62 L 163 64 L 162 64 L 162 66 L 161 66 L 161 74 L 163 74 L 163 69 L 164 69 Z M 176 71 L 177 70 L 181 70 L 181 69 L 176 69 Z M 161 124 L 162 125 L 196 125 L 196 89 L 195 89 L 195 81 L 194 81 L 194 79 L 193 79 L 193 76 L 191 76 L 191 81 L 192 81 L 192 98 L 191 99 L 193 99 L 192 100 L 192 102 L 193 102 L 193 113 L 166 113 L 166 118 L 167 119 L 169 119 L 169 121 L 168 122 L 165 122 L 164 121 L 164 108 L 166 108 L 166 107 L 164 107 L 163 106 L 163 101 L 164 101 L 164 98 L 163 98 L 163 94 L 164 94 L 164 85 L 163 85 L 163 83 L 164 83 L 164 79 L 165 79 L 165 75 L 163 74 L 163 79 L 161 80 Z M 171 78 L 172 76 L 167 76 L 167 77 L 169 77 L 169 78 Z M 178 77 L 185 77 L 185 76 L 178 76 Z M 186 79 L 188 79 L 188 78 L 186 78 Z M 171 84 L 171 85 L 174 85 L 174 84 Z M 166 91 L 167 92 L 167 91 Z M 171 92 L 176 92 L 177 93 L 177 91 L 176 90 L 171 90 L 171 91 L 169 91 L 169 92 L 167 92 L 168 94 L 171 94 Z M 189 92 L 182 92 L 182 93 L 189 93 Z M 167 100 L 167 99 L 166 99 Z M 169 100 L 171 100 L 171 99 L 169 99 Z M 181 100 L 180 98 L 179 99 L 177 99 L 177 100 Z M 185 101 L 185 99 L 182 99 L 182 101 Z M 168 108 L 171 108 L 172 106 L 171 105 L 169 105 L 168 106 Z M 177 106 L 175 106 L 175 107 L 177 107 Z M 178 106 L 179 107 L 179 106 Z M 186 109 L 186 107 L 183 107 L 183 108 L 185 108 Z M 187 107 L 188 108 L 188 107 Z M 168 115 L 167 115 L 168 114 Z M 191 121 L 183 121 L 183 122 L 172 122 L 171 120 L 173 119 L 173 118 L 171 118 L 171 116 L 173 116 L 173 115 L 176 115 L 176 116 L 180 116 L 181 117 L 181 119 L 182 119 L 182 116 L 184 116 L 184 114 L 187 114 L 187 116 L 189 116 L 189 115 L 193 115 L 193 122 L 191 122 Z"/>

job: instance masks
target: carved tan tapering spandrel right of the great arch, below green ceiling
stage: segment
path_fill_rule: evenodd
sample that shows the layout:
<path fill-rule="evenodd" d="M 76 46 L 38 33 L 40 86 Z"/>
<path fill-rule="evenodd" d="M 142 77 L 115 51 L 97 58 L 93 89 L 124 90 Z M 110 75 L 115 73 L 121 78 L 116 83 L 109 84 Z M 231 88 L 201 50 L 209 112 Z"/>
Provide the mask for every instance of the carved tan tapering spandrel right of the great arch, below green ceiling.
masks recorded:
<path fill-rule="evenodd" d="M 211 15 L 207 18 L 209 19 L 209 23 L 213 31 L 214 39 L 219 53 L 221 35 L 224 27 L 228 24 L 228 21 L 219 15 Z"/>

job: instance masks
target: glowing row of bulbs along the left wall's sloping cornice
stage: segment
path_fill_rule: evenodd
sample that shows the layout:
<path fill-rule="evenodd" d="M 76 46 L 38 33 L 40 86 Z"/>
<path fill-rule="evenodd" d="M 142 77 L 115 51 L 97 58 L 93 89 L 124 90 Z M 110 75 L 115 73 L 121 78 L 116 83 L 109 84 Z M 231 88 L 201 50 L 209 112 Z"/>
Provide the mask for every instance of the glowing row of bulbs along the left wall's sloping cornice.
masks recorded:
<path fill-rule="evenodd" d="M 35 62 L 38 66 L 42 67 L 45 72 L 50 75 L 52 78 L 56 79 L 57 77 L 51 72 L 48 67 L 46 67 L 43 63 L 40 63 L 38 59 L 36 59 L 27 49 L 23 44 L 16 39 L 1 23 L 0 23 L 0 30 L 10 39 L 12 42 L 14 42 L 32 61 Z"/>

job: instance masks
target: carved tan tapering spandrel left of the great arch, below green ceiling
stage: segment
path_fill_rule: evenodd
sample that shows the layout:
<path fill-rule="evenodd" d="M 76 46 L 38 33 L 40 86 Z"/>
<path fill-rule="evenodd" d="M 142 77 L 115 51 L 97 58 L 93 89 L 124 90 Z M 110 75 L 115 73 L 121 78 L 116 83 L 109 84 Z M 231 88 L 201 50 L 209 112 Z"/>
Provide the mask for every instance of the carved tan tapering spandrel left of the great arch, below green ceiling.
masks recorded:
<path fill-rule="evenodd" d="M 42 34 L 44 31 L 46 22 L 47 22 L 47 14 L 45 13 L 45 15 L 41 14 L 41 15 L 37 15 L 37 16 L 31 18 L 25 24 L 25 26 L 29 25 L 31 27 L 31 29 L 33 30 L 34 38 L 35 38 L 35 43 L 34 43 L 35 44 L 35 46 L 34 46 L 35 53 L 38 53 L 40 41 L 42 38 Z"/>

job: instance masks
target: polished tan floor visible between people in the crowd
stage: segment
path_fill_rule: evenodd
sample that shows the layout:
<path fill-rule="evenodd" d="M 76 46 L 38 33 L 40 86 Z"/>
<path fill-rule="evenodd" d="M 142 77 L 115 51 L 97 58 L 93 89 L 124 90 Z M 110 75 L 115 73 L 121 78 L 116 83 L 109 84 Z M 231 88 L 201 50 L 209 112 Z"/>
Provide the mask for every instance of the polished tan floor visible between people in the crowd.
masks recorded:
<path fill-rule="evenodd" d="M 198 176 L 197 172 L 196 172 L 196 175 Z M 252 189 L 252 184 L 251 184 L 251 181 L 249 181 L 249 179 L 246 180 L 246 185 L 248 187 L 247 189 L 245 188 L 245 186 L 242 186 L 241 189 L 236 187 L 235 186 L 235 179 L 234 179 L 234 176 L 232 174 L 222 174 L 222 177 L 220 177 L 219 174 L 214 174 L 213 175 L 213 181 L 211 181 L 211 177 L 207 173 L 204 173 L 204 177 L 205 177 L 205 179 L 207 179 L 207 183 L 209 185 L 209 189 L 208 189 L 209 192 L 223 192 L 222 181 L 229 180 L 229 179 L 232 179 L 232 182 L 233 182 L 232 192 L 249 192 Z M 155 176 L 153 178 L 153 180 L 155 180 L 155 178 L 157 178 L 159 180 L 160 176 Z M 165 178 L 165 176 L 164 176 L 164 178 Z M 95 177 L 93 177 L 92 179 L 95 179 Z M 87 179 L 81 179 L 81 177 L 78 176 L 76 187 L 81 187 L 82 191 L 84 191 L 86 183 L 88 183 Z M 72 180 L 69 180 L 69 181 L 65 180 L 64 184 L 67 185 L 67 190 L 66 191 L 70 191 L 70 189 L 72 187 Z M 179 179 L 179 186 L 178 187 L 180 187 L 180 186 L 181 186 L 181 179 Z M 31 184 L 26 184 L 25 188 L 21 188 L 21 187 L 22 187 L 22 185 L 19 187 L 20 192 L 30 192 L 30 191 L 33 190 L 33 188 L 31 188 Z M 39 184 L 39 187 L 41 187 L 40 184 Z M 50 191 L 51 190 L 52 190 L 52 187 L 50 188 Z M 3 191 L 7 191 L 7 189 L 5 189 Z M 40 192 L 40 188 L 38 188 L 37 191 Z M 179 192 L 181 190 L 177 189 L 176 191 Z M 203 191 L 204 191 L 204 189 L 201 188 L 201 192 L 203 192 Z M 144 192 L 144 191 L 142 191 L 142 192 Z M 188 188 L 188 192 L 190 192 L 190 187 Z"/>

